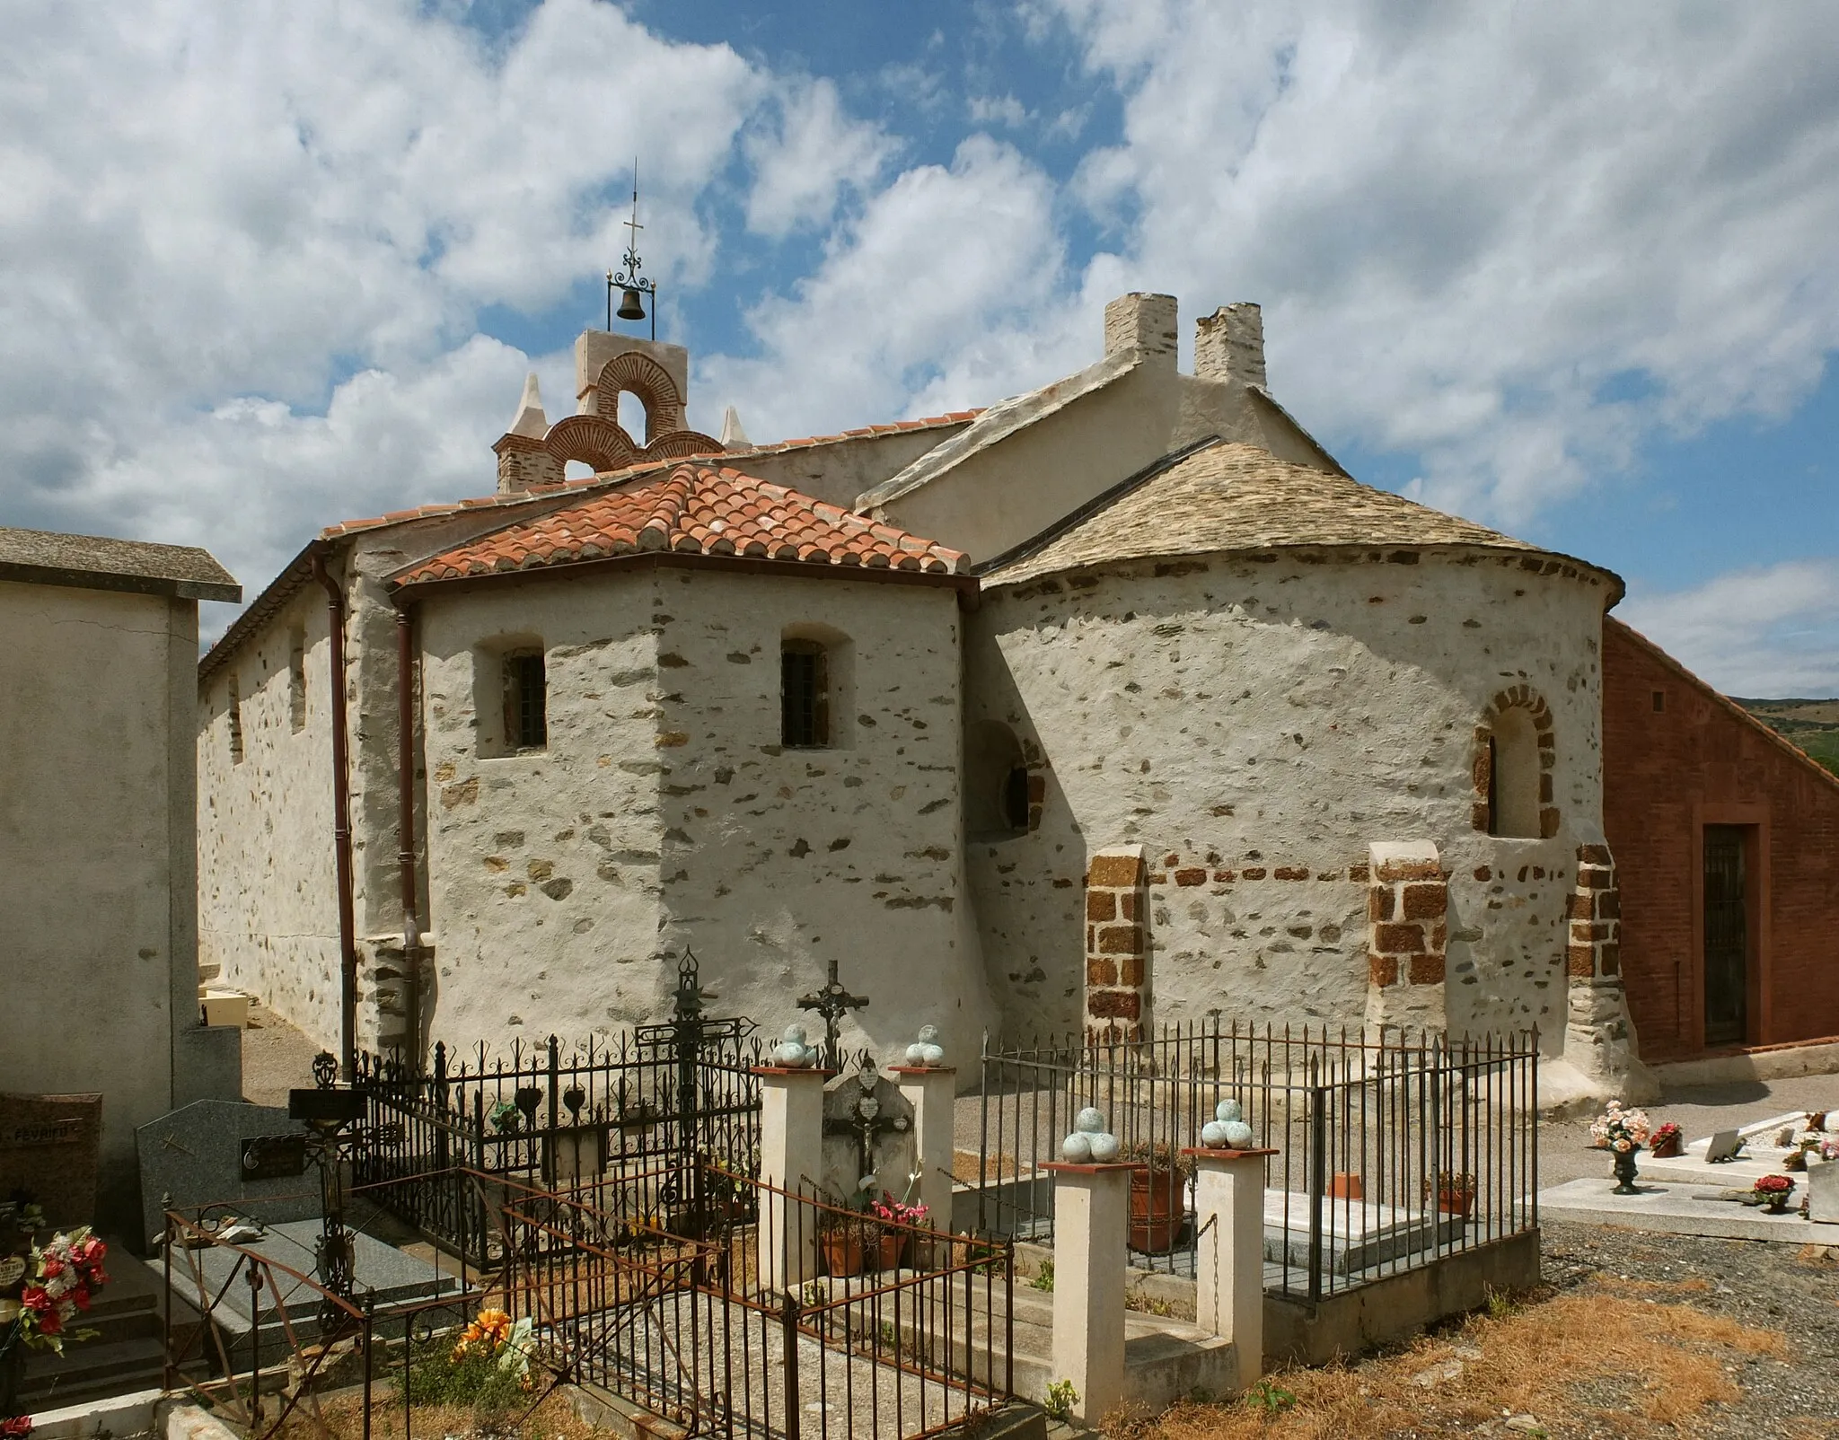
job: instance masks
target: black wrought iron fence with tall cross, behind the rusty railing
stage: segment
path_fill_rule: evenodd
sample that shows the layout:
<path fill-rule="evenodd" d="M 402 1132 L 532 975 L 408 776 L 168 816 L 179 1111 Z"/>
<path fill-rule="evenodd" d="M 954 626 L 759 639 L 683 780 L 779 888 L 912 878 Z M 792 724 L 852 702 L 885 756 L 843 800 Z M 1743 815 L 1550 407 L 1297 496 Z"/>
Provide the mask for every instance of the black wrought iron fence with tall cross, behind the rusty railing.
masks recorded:
<path fill-rule="evenodd" d="M 763 1046 L 745 1019 L 702 1015 L 695 956 L 679 969 L 673 1019 L 574 1046 L 445 1045 L 417 1070 L 359 1056 L 368 1124 L 353 1153 L 360 1188 L 474 1265 L 497 1262 L 489 1195 L 462 1171 L 577 1194 L 622 1223 L 682 1229 L 704 1206 L 697 1157 L 758 1171 Z"/>

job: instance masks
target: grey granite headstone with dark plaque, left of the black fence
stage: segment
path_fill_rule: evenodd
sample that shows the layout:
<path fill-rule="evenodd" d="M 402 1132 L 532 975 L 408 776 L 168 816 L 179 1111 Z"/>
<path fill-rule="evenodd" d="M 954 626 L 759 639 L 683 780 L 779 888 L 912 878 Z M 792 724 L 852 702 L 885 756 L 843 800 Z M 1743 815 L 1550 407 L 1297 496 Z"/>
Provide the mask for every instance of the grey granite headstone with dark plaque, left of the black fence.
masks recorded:
<path fill-rule="evenodd" d="M 193 1100 L 140 1126 L 134 1146 L 147 1240 L 166 1229 L 164 1195 L 175 1210 L 226 1201 L 248 1205 L 265 1223 L 316 1219 L 320 1177 L 305 1160 L 305 1135 L 285 1109 L 239 1100 Z"/>

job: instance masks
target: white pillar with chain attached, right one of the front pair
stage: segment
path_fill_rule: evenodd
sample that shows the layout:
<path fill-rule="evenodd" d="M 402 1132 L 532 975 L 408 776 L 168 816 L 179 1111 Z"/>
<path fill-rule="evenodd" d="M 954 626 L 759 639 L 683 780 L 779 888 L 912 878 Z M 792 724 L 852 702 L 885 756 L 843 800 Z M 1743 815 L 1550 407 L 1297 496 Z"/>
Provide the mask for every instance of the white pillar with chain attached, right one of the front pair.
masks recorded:
<path fill-rule="evenodd" d="M 1247 1390 L 1263 1374 L 1263 1171 L 1271 1149 L 1184 1149 L 1194 1159 L 1194 1322 L 1225 1341 Z"/>

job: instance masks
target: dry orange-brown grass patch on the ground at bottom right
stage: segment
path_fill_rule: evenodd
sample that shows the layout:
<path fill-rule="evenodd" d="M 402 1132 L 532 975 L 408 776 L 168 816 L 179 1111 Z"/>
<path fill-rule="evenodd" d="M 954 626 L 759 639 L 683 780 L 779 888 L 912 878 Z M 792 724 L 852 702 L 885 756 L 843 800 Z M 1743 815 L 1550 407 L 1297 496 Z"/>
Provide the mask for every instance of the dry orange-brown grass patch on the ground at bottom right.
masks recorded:
<path fill-rule="evenodd" d="M 1113 1422 L 1133 1440 L 1379 1440 L 1392 1434 L 1468 1433 L 1502 1412 L 1532 1414 L 1548 1434 L 1593 1422 L 1631 1436 L 1696 1434 L 1708 1405 L 1740 1398 L 1732 1363 L 1782 1357 L 1788 1341 L 1686 1304 L 1662 1291 L 1705 1289 L 1611 1282 L 1593 1291 L 1501 1308 L 1458 1331 L 1423 1337 L 1409 1350 L 1359 1366 L 1285 1370 L 1273 1387 L 1295 1403 L 1265 1414 L 1251 1401 L 1177 1405 L 1159 1422 Z M 1639 1297 L 1639 1298 L 1637 1298 Z M 1434 1383 L 1414 1377 L 1458 1374 Z"/>

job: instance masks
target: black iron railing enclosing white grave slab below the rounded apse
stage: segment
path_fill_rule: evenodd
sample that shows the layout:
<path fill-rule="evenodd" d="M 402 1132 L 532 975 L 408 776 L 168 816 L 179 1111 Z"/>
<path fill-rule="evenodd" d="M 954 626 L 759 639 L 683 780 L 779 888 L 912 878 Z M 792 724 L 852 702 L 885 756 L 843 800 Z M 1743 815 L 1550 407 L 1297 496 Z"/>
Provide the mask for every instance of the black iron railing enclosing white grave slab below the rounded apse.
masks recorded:
<path fill-rule="evenodd" d="M 1265 1160 L 1265 1289 L 1319 1300 L 1536 1229 L 1537 1034 L 1168 1026 L 984 1045 L 978 1229 L 1052 1238 L 1061 1137 L 1096 1107 L 1133 1181 L 1133 1263 L 1194 1274 L 1194 1188 L 1181 1160 L 1238 1100 Z"/>

